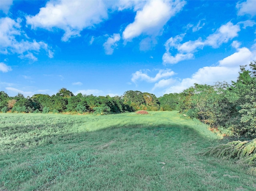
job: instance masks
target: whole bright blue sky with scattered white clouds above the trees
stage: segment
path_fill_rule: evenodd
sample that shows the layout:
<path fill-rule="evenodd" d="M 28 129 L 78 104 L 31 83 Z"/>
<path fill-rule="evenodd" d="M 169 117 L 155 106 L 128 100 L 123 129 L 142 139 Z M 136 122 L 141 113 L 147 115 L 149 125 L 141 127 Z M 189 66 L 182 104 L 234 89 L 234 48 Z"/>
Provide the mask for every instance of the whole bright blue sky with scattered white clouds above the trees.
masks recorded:
<path fill-rule="evenodd" d="M 256 0 L 0 0 L 0 91 L 157 97 L 236 81 Z"/>

